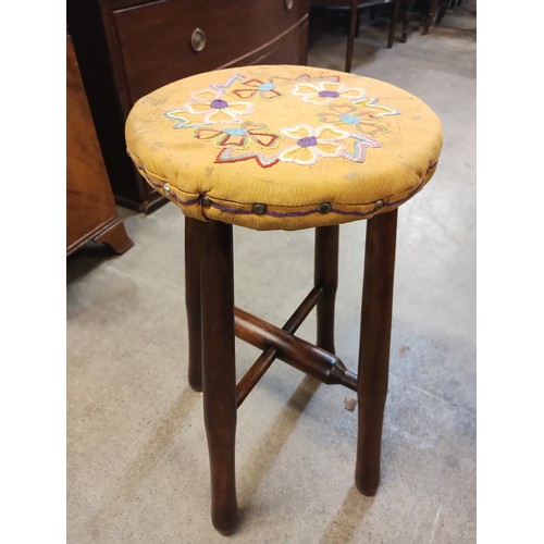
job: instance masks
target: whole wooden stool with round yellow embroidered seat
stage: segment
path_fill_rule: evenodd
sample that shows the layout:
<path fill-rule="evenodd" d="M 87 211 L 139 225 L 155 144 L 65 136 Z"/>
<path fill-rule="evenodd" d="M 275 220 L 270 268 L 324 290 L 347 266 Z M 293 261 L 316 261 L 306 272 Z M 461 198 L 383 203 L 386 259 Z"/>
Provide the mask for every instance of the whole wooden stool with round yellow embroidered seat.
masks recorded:
<path fill-rule="evenodd" d="M 217 530 L 237 524 L 237 407 L 277 358 L 357 393 L 355 481 L 380 482 L 397 208 L 432 177 L 442 127 L 421 100 L 354 74 L 296 65 L 198 74 L 138 100 L 127 152 L 186 217 L 188 380 L 203 391 Z M 358 378 L 336 357 L 338 225 L 367 220 Z M 233 225 L 316 227 L 314 287 L 283 327 L 234 307 Z M 317 307 L 317 343 L 294 335 Z M 235 335 L 262 348 L 236 384 Z"/>

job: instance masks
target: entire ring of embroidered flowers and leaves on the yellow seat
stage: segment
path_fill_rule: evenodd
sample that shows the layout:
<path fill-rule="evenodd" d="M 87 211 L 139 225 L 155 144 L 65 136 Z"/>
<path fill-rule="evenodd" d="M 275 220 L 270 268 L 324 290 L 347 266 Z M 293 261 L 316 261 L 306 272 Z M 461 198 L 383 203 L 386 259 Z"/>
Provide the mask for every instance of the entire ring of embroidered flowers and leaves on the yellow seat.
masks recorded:
<path fill-rule="evenodd" d="M 280 132 L 244 115 L 254 112 L 251 100 L 275 100 L 288 94 L 301 97 L 301 108 L 313 108 L 318 126 L 298 124 Z M 317 106 L 324 107 L 319 111 Z M 296 108 L 293 109 L 296 115 Z M 194 128 L 194 137 L 220 148 L 217 163 L 255 160 L 261 168 L 280 162 L 316 164 L 321 159 L 342 158 L 363 162 L 367 149 L 380 148 L 374 136 L 390 131 L 387 119 L 399 112 L 368 97 L 359 87 L 348 87 L 337 75 L 264 78 L 234 74 L 189 95 L 181 108 L 165 112 L 174 128 Z M 275 151 L 272 151 L 275 150 Z"/>

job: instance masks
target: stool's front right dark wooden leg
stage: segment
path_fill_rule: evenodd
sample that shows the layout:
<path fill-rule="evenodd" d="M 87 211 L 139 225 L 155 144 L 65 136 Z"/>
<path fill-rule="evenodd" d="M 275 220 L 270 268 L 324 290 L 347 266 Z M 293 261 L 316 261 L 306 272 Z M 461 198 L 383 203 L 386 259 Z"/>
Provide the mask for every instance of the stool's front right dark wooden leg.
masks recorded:
<path fill-rule="evenodd" d="M 355 482 L 363 495 L 380 483 L 382 426 L 390 368 L 397 210 L 367 223 L 359 345 L 359 433 Z"/>

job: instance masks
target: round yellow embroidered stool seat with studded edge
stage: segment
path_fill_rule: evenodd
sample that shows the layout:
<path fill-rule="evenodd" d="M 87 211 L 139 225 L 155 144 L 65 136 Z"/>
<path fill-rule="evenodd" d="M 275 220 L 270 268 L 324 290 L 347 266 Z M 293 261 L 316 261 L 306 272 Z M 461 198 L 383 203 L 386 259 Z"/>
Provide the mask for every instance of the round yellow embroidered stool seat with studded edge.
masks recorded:
<path fill-rule="evenodd" d="M 138 100 L 129 157 L 182 211 L 297 230 L 391 211 L 432 177 L 436 114 L 409 92 L 296 65 L 198 74 Z"/>

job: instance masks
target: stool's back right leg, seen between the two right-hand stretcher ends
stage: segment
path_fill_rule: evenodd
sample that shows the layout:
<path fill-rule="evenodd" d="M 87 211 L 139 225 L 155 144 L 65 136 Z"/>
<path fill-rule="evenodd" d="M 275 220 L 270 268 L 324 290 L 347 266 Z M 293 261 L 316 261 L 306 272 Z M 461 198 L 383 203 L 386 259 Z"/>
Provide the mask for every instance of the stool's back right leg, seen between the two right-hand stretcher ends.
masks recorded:
<path fill-rule="evenodd" d="M 323 287 L 318 302 L 317 345 L 334 354 L 334 302 L 338 285 L 338 225 L 316 227 L 314 285 Z"/>

